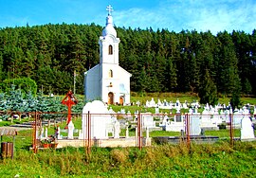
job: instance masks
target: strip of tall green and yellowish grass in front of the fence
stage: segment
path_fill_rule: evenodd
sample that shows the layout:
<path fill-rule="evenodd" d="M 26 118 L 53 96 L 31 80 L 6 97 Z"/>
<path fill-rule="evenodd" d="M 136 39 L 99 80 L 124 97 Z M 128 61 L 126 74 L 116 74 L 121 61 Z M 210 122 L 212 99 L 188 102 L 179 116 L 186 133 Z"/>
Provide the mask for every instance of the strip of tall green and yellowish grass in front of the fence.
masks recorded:
<path fill-rule="evenodd" d="M 1 177 L 254 177 L 256 142 L 143 148 L 18 150 L 0 161 Z"/>

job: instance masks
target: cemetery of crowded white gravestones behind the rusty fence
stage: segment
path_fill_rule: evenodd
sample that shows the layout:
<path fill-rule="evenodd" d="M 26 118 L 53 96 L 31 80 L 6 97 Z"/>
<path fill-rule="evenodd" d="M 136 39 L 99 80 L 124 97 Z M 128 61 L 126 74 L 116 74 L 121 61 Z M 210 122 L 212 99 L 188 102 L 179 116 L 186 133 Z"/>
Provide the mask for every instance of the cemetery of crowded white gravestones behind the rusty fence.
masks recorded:
<path fill-rule="evenodd" d="M 154 103 L 154 98 L 151 103 Z M 240 130 L 240 137 L 227 134 L 227 137 L 232 137 L 233 140 L 255 140 L 253 128 L 255 117 L 250 115 L 249 108 L 246 106 L 242 110 L 235 110 L 232 115 L 229 106 L 227 108 L 212 107 L 207 104 L 201 105 L 203 107 L 201 109 L 198 104 L 188 102 L 182 104 L 178 99 L 169 106 L 172 109 L 164 110 L 169 110 L 170 113 L 160 113 L 158 106 L 161 106 L 159 99 L 158 105 L 155 103 L 149 105 L 146 102 L 144 106 L 145 108 L 155 108 L 155 113 L 140 113 L 138 111 L 131 113 L 130 111 L 126 112 L 123 108 L 115 112 L 112 107 L 100 100 L 88 102 L 83 107 L 82 114 L 78 115 L 78 119 L 82 119 L 81 126 L 75 128 L 71 114 L 68 114 L 67 125 L 64 129 L 56 128 L 52 143 L 56 144 L 57 149 L 64 147 L 137 147 L 139 139 L 141 139 L 141 147 L 151 146 L 153 140 L 158 144 L 167 142 L 178 144 L 181 140 L 192 143 L 214 143 L 220 140 L 219 136 L 205 135 L 205 132 L 218 131 L 221 126 L 227 127 L 227 133 L 229 130 Z M 188 113 L 181 113 L 182 109 L 186 109 Z M 198 113 L 198 109 L 201 109 L 202 113 Z M 138 126 L 138 119 L 141 126 Z M 135 129 L 135 135 L 129 133 L 131 129 Z M 121 130 L 122 135 L 120 135 Z M 163 134 L 151 137 L 151 133 L 154 131 L 173 132 L 176 135 L 164 136 Z M 38 125 L 34 132 L 35 143 L 50 140 L 47 137 L 47 128 L 44 131 L 42 125 Z M 142 136 L 143 133 L 144 136 Z M 138 134 L 141 136 L 139 137 Z M 42 144 L 33 146 L 33 148 L 35 147 L 41 148 Z"/>

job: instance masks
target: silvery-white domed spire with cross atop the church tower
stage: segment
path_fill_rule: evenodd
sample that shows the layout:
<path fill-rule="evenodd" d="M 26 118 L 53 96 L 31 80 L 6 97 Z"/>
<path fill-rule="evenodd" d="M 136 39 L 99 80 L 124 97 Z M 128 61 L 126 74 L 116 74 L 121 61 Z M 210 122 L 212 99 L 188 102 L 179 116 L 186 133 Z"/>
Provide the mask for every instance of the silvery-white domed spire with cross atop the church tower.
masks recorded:
<path fill-rule="evenodd" d="M 113 27 L 113 17 L 111 15 L 111 11 L 113 11 L 113 8 L 111 7 L 111 5 L 108 5 L 106 10 L 108 11 L 108 15 L 106 17 L 106 27 L 104 27 L 102 31 L 102 36 L 113 35 L 117 37 L 117 31 Z"/>

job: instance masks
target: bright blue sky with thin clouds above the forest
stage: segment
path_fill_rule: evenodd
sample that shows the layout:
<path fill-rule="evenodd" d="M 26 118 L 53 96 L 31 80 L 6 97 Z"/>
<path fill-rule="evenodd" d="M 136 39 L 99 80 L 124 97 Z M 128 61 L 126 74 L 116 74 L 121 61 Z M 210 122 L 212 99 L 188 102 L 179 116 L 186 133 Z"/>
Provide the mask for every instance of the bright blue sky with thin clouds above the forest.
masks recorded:
<path fill-rule="evenodd" d="M 106 6 L 116 27 L 207 31 L 256 28 L 256 0 L 0 0 L 0 27 L 46 24 L 105 25 Z"/>

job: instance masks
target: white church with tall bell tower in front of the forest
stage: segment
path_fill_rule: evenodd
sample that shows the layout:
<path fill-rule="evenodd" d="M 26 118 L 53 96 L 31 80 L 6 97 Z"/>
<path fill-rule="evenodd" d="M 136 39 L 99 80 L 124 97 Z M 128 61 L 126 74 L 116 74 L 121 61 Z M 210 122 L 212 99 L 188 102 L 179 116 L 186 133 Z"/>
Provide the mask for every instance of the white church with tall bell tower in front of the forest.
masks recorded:
<path fill-rule="evenodd" d="M 84 73 L 86 100 L 102 100 L 107 104 L 130 103 L 132 75 L 119 66 L 119 38 L 113 27 L 112 7 L 107 7 L 106 27 L 99 39 L 100 63 Z"/>

